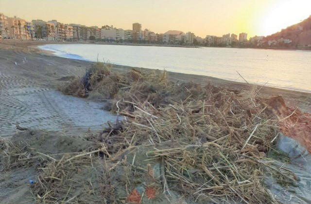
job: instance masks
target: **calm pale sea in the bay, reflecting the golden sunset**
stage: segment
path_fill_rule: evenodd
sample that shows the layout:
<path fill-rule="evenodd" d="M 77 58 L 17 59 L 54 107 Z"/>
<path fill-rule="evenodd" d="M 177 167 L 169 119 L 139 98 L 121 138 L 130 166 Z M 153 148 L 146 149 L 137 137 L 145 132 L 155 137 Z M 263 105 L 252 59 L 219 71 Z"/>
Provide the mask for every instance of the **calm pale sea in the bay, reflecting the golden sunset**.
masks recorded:
<path fill-rule="evenodd" d="M 238 48 L 180 48 L 98 44 L 39 46 L 56 56 L 199 74 L 311 93 L 311 52 Z"/>

